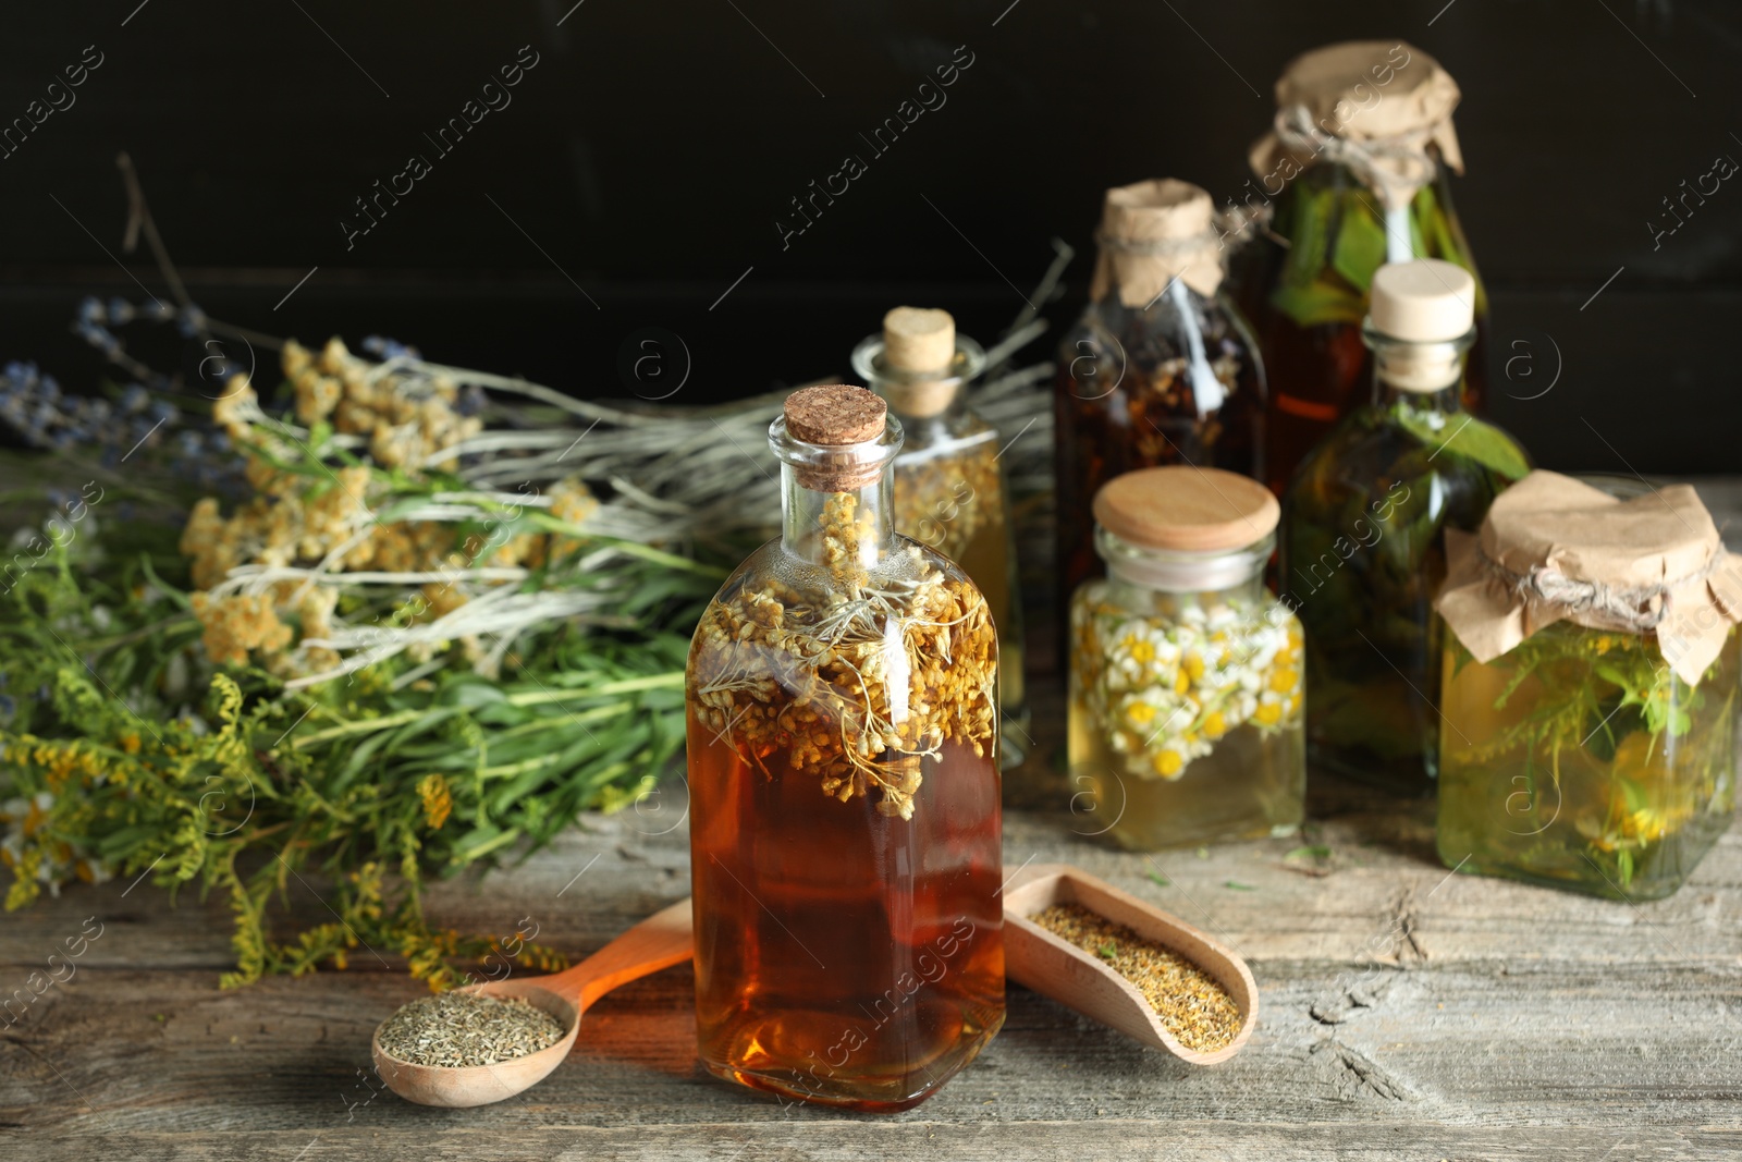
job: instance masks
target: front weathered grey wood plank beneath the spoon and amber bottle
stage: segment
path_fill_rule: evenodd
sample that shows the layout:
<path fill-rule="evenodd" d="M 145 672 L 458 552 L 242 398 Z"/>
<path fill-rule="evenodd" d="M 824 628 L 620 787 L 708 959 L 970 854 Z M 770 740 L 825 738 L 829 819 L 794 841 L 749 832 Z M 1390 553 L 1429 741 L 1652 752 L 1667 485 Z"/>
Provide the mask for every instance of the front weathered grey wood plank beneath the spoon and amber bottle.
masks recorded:
<path fill-rule="evenodd" d="M 1742 974 L 1528 962 L 1324 972 L 1266 967 L 1233 1061 L 1193 1070 L 1012 990 L 984 1057 L 897 1122 L 1061 1118 L 1240 1124 L 1712 1125 L 1742 1122 Z M 721 1085 L 693 1064 L 690 974 L 591 1014 L 573 1057 L 524 1098 L 436 1113 L 369 1099 L 369 1033 L 415 995 L 385 974 L 218 993 L 186 974 L 103 970 L 5 1035 L 0 1122 L 122 1134 L 415 1132 L 829 1122 Z M 1315 1016 L 1317 1014 L 1317 1016 Z M 361 1103 L 361 1105 L 359 1105 Z M 355 1108 L 352 1108 L 355 1105 Z"/>

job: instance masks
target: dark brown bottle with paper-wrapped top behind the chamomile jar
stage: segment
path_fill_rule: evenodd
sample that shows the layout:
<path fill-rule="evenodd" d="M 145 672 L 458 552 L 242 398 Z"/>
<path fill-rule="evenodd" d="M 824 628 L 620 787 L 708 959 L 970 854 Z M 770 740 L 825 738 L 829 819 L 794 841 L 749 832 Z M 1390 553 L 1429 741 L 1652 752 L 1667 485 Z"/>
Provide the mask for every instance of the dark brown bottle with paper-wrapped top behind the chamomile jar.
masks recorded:
<path fill-rule="evenodd" d="M 1059 347 L 1059 610 L 1101 573 L 1090 505 L 1122 472 L 1167 463 L 1263 477 L 1265 369 L 1221 293 L 1209 193 L 1162 178 L 1106 192 L 1090 305 Z"/>

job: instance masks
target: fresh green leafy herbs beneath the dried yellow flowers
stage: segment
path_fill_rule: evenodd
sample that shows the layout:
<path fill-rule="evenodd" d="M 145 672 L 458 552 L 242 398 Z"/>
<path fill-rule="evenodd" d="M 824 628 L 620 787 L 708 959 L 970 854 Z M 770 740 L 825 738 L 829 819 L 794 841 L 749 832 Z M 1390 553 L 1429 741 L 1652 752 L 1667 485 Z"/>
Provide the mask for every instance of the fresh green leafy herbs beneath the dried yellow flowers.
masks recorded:
<path fill-rule="evenodd" d="M 92 559 L 103 528 L 82 530 L 0 596 L 9 909 L 68 880 L 146 875 L 228 899 L 225 984 L 397 953 L 448 986 L 507 937 L 430 925 L 427 880 L 632 801 L 683 744 L 686 641 L 653 627 L 559 625 L 496 679 L 441 667 L 406 683 L 395 657 L 293 692 L 260 665 L 213 664 L 174 530 L 159 531 L 155 554 L 110 561 Z M 284 932 L 275 913 L 317 890 L 305 876 L 331 885 L 334 920 Z"/>

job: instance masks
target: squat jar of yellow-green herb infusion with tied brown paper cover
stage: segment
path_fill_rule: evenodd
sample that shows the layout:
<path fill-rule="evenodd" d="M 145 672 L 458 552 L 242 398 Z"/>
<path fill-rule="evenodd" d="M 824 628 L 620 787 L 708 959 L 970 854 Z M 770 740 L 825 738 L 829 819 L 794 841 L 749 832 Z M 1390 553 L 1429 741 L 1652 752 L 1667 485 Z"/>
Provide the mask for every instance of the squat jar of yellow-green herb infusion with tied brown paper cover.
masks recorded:
<path fill-rule="evenodd" d="M 1449 538 L 1439 855 L 1611 899 L 1730 829 L 1742 557 L 1688 484 L 1533 472 Z"/>

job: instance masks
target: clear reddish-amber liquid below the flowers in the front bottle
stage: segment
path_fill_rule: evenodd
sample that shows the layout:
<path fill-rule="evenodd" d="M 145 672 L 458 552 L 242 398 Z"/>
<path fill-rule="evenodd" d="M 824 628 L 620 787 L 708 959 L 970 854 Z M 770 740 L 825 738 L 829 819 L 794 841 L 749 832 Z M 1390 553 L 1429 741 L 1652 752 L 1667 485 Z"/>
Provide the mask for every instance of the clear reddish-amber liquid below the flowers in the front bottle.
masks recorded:
<path fill-rule="evenodd" d="M 712 735 L 692 714 L 702 1064 L 805 1101 L 918 1105 L 1003 1023 L 996 765 L 946 742 L 901 819 Z"/>

